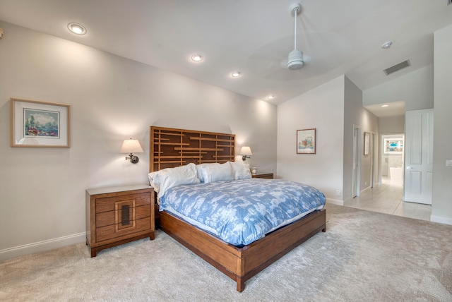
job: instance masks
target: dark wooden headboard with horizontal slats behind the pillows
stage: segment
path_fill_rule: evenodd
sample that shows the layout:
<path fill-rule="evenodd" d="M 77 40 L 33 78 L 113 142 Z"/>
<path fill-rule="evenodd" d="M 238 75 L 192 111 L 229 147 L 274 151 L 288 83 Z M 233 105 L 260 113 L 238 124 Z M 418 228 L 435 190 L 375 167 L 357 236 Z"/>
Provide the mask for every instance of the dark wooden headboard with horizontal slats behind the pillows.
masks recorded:
<path fill-rule="evenodd" d="M 149 171 L 235 160 L 235 135 L 150 126 Z"/>

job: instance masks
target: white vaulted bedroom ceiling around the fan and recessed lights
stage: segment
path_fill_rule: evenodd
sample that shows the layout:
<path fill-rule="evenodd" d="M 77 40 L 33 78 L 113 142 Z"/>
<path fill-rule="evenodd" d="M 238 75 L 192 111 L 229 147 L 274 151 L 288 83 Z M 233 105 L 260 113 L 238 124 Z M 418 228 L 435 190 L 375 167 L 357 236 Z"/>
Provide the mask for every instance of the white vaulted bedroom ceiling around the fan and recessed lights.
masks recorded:
<path fill-rule="evenodd" d="M 301 3 L 299 71 L 290 7 Z M 0 0 L 0 20 L 280 104 L 345 74 L 361 90 L 433 64 L 433 32 L 452 24 L 448 0 Z M 81 23 L 83 36 L 67 30 Z M 4 32 L 6 37 L 8 32 Z M 384 42 L 392 41 L 389 49 Z M 192 54 L 203 54 L 194 63 Z M 410 59 L 386 76 L 383 69 Z M 242 72 L 232 78 L 232 71 Z"/>

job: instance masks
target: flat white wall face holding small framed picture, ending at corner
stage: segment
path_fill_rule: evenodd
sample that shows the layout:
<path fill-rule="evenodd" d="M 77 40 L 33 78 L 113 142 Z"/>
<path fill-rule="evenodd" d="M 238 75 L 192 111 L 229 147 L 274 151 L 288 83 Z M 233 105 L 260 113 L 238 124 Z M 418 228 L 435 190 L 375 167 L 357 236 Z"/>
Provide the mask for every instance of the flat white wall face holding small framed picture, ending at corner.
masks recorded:
<path fill-rule="evenodd" d="M 344 75 L 278 106 L 278 178 L 315 186 L 328 200 L 343 188 Z M 297 154 L 297 130 L 316 128 L 316 154 Z M 341 192 L 342 193 L 342 192 Z"/>

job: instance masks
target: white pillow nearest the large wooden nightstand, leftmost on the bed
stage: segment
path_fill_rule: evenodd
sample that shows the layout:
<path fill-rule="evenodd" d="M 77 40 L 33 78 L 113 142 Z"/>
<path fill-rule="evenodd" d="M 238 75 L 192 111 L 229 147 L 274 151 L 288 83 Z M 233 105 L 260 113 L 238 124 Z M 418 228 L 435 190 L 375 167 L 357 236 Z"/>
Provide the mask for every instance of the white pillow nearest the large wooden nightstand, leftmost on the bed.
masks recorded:
<path fill-rule="evenodd" d="M 157 192 L 157 197 L 161 198 L 167 189 L 179 185 L 189 185 L 200 183 L 196 175 L 196 165 L 193 163 L 186 166 L 166 168 L 148 174 L 150 186 Z"/>

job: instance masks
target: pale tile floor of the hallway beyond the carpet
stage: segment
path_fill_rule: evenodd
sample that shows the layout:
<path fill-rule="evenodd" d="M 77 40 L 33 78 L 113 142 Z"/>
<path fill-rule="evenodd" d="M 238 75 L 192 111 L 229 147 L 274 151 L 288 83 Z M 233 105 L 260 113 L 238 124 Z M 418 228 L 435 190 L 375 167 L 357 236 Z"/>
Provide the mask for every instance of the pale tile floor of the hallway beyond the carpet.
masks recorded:
<path fill-rule="evenodd" d="M 391 183 L 388 179 L 383 178 L 381 179 L 381 185 L 367 189 L 344 205 L 362 210 L 430 221 L 432 205 L 406 203 L 402 200 L 402 196 L 403 186 Z"/>

